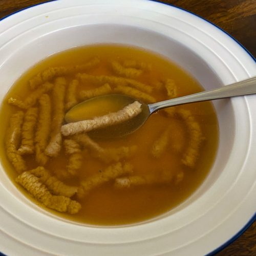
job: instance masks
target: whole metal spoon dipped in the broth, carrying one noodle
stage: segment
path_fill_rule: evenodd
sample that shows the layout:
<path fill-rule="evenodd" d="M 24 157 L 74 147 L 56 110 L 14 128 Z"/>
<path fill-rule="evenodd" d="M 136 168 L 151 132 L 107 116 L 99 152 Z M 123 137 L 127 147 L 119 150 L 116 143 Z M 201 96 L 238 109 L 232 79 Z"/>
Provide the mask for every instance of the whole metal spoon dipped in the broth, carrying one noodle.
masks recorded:
<path fill-rule="evenodd" d="M 153 104 L 145 104 L 139 100 L 142 103 L 142 112 L 138 116 L 117 125 L 92 131 L 90 134 L 91 136 L 101 138 L 121 137 L 136 131 L 152 113 L 161 109 L 169 108 L 170 106 L 255 93 L 256 77 L 252 77 L 221 88 L 169 99 Z M 76 122 L 91 119 L 95 116 L 102 116 L 110 112 L 116 112 L 135 100 L 136 99 L 132 97 L 120 94 L 109 94 L 91 98 L 75 105 L 70 111 L 67 112 L 65 120 L 67 122 Z"/>

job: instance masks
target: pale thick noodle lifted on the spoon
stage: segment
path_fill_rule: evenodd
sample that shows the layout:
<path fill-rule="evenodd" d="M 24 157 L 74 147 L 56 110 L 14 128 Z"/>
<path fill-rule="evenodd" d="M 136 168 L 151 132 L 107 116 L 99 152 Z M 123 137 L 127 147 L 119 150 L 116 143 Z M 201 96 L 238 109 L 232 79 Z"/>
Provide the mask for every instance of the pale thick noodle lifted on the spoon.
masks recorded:
<path fill-rule="evenodd" d="M 94 119 L 90 120 L 78 121 L 62 125 L 61 133 L 64 136 L 74 135 L 82 132 L 87 133 L 92 130 L 100 129 L 132 119 L 141 111 L 141 103 L 134 101 L 118 112 L 95 117 Z"/>

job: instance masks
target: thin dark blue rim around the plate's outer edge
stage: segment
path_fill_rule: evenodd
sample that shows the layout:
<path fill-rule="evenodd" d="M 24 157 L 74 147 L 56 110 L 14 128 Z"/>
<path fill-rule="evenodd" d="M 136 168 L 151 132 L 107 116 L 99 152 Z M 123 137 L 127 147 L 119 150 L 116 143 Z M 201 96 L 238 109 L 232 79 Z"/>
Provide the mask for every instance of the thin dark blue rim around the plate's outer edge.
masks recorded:
<path fill-rule="evenodd" d="M 21 11 L 23 11 L 23 10 L 29 9 L 29 8 L 31 8 L 31 7 L 35 7 L 35 6 L 38 6 L 38 5 L 47 4 L 47 3 L 50 3 L 50 2 L 54 2 L 54 1 L 58 1 L 58 0 L 49 0 L 49 1 L 46 1 L 46 2 L 44 2 L 44 3 L 38 3 L 38 4 L 35 4 L 35 5 L 31 5 L 31 6 L 25 7 L 25 8 L 20 9 L 20 10 L 17 10 L 17 11 L 15 11 L 15 12 L 13 12 L 13 13 L 10 13 L 10 14 L 8 14 L 8 15 L 6 15 L 6 16 L 0 18 L 0 22 L 1 22 L 1 20 L 3 20 L 3 19 L 5 19 L 5 18 L 7 18 L 7 17 L 9 17 L 9 16 L 11 16 L 11 15 L 13 15 L 13 14 L 15 14 L 15 13 L 18 13 L 18 12 L 21 12 Z M 199 17 L 199 18 L 205 20 L 205 22 L 207 22 L 207 23 L 209 23 L 209 24 L 215 26 L 216 28 L 218 28 L 219 30 L 221 30 L 222 32 L 224 32 L 226 35 L 228 35 L 230 38 L 232 38 L 234 41 L 236 41 L 237 44 L 238 44 L 240 47 L 242 47 L 242 48 L 245 50 L 245 52 L 256 62 L 256 58 L 254 58 L 254 56 L 253 56 L 236 38 L 234 38 L 233 36 L 231 36 L 229 33 L 227 33 L 225 30 L 223 30 L 222 28 L 220 28 L 220 27 L 217 26 L 216 24 L 210 22 L 210 21 L 207 20 L 206 18 L 203 18 L 203 17 L 201 17 L 201 16 L 195 14 L 194 12 L 188 11 L 188 10 L 183 9 L 183 8 L 181 8 L 181 7 L 178 7 L 178 6 L 175 6 L 175 5 L 172 5 L 172 4 L 168 4 L 168 3 L 163 3 L 163 2 L 160 2 L 160 1 L 158 1 L 158 0 L 146 0 L 146 1 L 152 1 L 152 2 L 159 3 L 159 4 L 163 4 L 163 5 L 167 5 L 167 6 L 172 6 L 172 7 L 174 7 L 174 8 L 177 8 L 177 9 L 180 9 L 180 10 L 182 10 L 182 11 L 188 12 L 188 13 L 194 15 L 194 16 L 197 16 L 197 17 Z M 245 225 L 240 231 L 238 231 L 232 238 L 230 238 L 227 242 L 225 242 L 224 244 L 222 244 L 221 246 L 219 246 L 219 247 L 216 248 L 215 250 L 213 250 L 213 251 L 207 253 L 206 256 L 215 255 L 217 252 L 223 250 L 223 249 L 224 249 L 225 247 L 227 247 L 229 244 L 231 244 L 232 242 L 234 242 L 235 240 L 237 240 L 237 239 L 246 231 L 246 229 L 249 228 L 249 226 L 253 224 L 254 221 L 256 221 L 256 213 L 255 213 L 255 214 L 252 216 L 252 218 L 246 223 L 246 225 Z M 4 253 L 0 252 L 0 256 L 6 256 L 6 255 L 5 255 Z"/>

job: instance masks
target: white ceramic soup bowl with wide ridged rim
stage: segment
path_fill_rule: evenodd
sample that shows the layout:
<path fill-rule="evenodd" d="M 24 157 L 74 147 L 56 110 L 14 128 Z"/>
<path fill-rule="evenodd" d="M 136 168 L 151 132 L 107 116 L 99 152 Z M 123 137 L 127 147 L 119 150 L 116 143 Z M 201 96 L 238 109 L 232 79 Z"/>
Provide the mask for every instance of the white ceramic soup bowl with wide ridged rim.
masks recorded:
<path fill-rule="evenodd" d="M 205 89 L 256 75 L 245 49 L 184 10 L 146 0 L 62 0 L 0 22 L 1 101 L 42 58 L 101 42 L 160 53 Z M 145 223 L 113 228 L 59 219 L 20 194 L 1 167 L 0 250 L 8 255 L 203 255 L 220 248 L 255 219 L 255 102 L 255 96 L 214 102 L 220 145 L 209 176 L 180 206 Z"/>

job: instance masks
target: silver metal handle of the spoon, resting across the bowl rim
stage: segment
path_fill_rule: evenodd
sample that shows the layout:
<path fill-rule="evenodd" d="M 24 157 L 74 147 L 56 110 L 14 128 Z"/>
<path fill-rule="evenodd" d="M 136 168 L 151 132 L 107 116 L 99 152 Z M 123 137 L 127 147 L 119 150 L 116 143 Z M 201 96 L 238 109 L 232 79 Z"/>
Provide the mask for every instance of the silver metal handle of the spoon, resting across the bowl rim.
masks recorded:
<path fill-rule="evenodd" d="M 169 99 L 165 101 L 160 101 L 153 104 L 148 104 L 150 113 L 153 113 L 157 110 L 168 108 L 169 106 L 176 106 L 186 103 L 214 100 L 214 99 L 223 99 L 234 96 L 242 96 L 256 93 L 256 76 L 229 84 L 221 88 L 204 91 L 200 93 L 190 94 L 187 96 Z"/>

